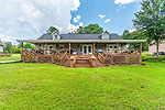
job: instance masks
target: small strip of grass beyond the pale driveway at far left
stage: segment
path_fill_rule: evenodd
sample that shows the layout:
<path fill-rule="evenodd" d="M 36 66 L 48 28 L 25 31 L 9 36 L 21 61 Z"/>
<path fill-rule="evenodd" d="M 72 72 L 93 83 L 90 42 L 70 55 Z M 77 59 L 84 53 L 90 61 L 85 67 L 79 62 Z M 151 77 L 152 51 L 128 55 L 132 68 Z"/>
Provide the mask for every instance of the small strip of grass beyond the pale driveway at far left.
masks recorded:
<path fill-rule="evenodd" d="M 20 61 L 21 55 L 20 54 L 12 54 L 11 56 L 0 56 L 0 62 L 6 62 L 6 61 Z"/>

